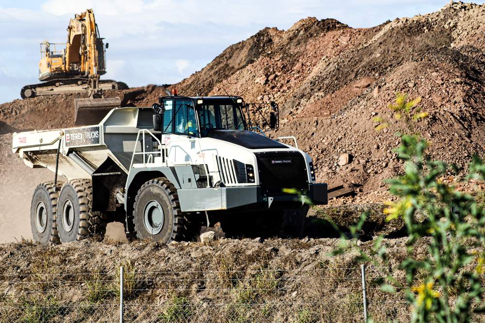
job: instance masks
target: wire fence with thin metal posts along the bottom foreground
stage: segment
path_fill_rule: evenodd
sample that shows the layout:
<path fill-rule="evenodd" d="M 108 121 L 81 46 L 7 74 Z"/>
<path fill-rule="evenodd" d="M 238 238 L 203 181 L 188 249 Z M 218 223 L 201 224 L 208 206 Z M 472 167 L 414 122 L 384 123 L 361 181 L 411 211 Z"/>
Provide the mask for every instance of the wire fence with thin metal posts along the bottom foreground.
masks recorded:
<path fill-rule="evenodd" d="M 409 322 L 383 268 L 0 274 L 0 322 Z M 398 273 L 398 271 L 395 271 Z M 364 277 L 364 279 L 363 279 Z M 397 280 L 405 282 L 396 274 Z M 364 295 L 365 291 L 365 295 Z"/>

